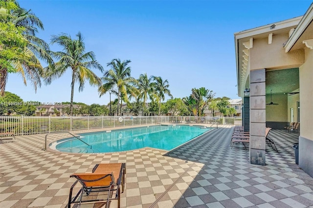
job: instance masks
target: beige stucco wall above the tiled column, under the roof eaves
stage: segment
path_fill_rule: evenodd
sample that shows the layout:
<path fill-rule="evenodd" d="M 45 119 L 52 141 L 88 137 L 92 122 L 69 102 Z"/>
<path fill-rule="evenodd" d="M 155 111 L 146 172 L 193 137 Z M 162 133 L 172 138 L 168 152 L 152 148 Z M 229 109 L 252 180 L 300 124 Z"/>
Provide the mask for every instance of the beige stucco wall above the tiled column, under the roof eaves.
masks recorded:
<path fill-rule="evenodd" d="M 288 33 L 273 35 L 271 44 L 268 44 L 268 38 L 254 39 L 253 47 L 250 48 L 250 70 L 260 68 L 284 69 L 303 64 L 303 49 L 285 52 L 283 44 L 288 40 L 288 37 Z"/>

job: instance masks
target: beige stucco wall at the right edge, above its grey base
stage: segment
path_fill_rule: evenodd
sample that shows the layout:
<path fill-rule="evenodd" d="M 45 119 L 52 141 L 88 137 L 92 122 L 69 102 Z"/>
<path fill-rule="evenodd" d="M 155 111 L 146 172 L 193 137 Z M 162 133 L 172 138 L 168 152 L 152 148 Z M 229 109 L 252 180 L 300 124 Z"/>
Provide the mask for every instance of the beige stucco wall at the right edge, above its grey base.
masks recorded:
<path fill-rule="evenodd" d="M 305 63 L 299 67 L 300 136 L 313 140 L 313 50 L 305 48 Z"/>

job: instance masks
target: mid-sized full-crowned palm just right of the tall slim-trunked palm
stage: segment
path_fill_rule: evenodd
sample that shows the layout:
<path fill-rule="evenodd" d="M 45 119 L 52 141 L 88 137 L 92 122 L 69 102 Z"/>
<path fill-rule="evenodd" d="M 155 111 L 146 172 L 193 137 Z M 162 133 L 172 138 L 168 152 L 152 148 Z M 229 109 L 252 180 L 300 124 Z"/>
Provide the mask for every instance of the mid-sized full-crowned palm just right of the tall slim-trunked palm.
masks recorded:
<path fill-rule="evenodd" d="M 113 94 L 116 94 L 117 116 L 119 115 L 120 100 L 123 98 L 124 101 L 128 102 L 128 94 L 136 96 L 137 89 L 135 85 L 137 80 L 131 77 L 131 67 L 127 66 L 130 62 L 130 60 L 121 62 L 120 59 L 113 59 L 109 62 L 107 66 L 111 66 L 111 69 L 104 72 L 102 77 L 103 85 L 98 88 L 100 97 L 110 90 Z"/>

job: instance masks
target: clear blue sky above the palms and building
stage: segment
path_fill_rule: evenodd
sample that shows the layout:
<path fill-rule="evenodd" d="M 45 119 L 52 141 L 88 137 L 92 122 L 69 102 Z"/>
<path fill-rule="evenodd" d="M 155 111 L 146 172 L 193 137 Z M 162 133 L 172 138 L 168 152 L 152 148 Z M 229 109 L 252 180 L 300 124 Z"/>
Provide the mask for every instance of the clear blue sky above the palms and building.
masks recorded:
<path fill-rule="evenodd" d="M 114 58 L 131 60 L 132 77 L 140 74 L 167 79 L 174 98 L 189 96 L 192 88 L 205 87 L 215 97 L 237 99 L 234 33 L 305 14 L 312 1 L 213 0 L 20 0 L 44 23 L 38 37 L 80 31 L 86 52 L 93 51 L 105 70 Z M 50 45 L 54 51 L 61 49 Z M 44 64 L 45 66 L 45 64 Z M 99 77 L 103 74 L 94 71 Z M 10 74 L 6 91 L 23 101 L 70 101 L 70 70 L 35 93 L 31 83 Z M 114 99 L 114 96 L 112 96 Z M 166 98 L 167 100 L 168 98 Z M 88 84 L 75 85 L 74 102 L 108 104 Z"/>

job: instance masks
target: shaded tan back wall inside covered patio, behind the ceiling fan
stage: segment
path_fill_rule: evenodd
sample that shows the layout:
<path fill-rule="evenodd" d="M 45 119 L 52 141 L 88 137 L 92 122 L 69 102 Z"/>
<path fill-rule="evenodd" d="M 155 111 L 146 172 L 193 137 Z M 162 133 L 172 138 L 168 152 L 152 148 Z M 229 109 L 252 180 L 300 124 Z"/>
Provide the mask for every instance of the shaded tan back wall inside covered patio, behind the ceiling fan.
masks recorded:
<path fill-rule="evenodd" d="M 266 105 L 267 122 L 287 122 L 288 121 L 288 98 L 287 94 L 272 94 L 272 102 L 278 105 Z M 266 103 L 270 102 L 270 96 L 266 97 Z"/>

